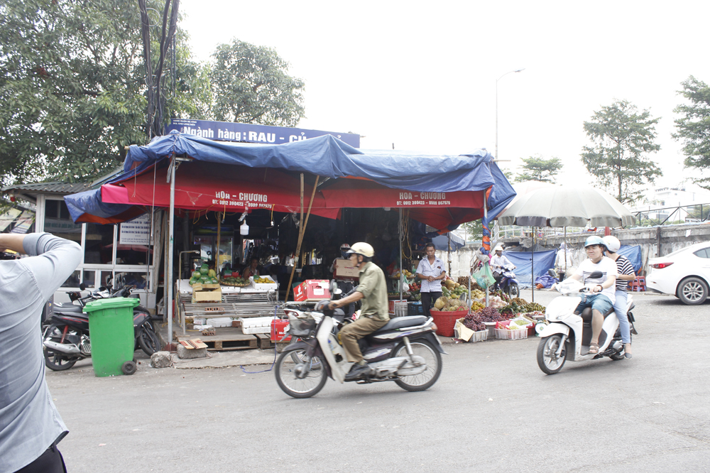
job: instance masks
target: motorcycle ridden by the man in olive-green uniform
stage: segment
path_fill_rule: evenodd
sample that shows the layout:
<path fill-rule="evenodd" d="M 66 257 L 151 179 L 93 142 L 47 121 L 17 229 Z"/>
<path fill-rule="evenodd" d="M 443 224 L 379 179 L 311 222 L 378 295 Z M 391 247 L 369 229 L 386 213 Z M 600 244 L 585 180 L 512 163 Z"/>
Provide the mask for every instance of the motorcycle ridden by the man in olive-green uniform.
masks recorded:
<path fill-rule="evenodd" d="M 339 342 L 339 330 L 351 322 L 341 309 L 329 310 L 329 300 L 310 312 L 298 303 L 285 303 L 289 323 L 285 333 L 300 338 L 283 349 L 275 363 L 275 377 L 283 392 L 294 398 L 309 398 L 325 386 L 328 378 L 344 383 L 370 384 L 394 381 L 407 391 L 424 391 L 442 372 L 446 353 L 435 334 L 432 317 L 395 317 L 381 329 L 359 340 L 370 367 L 356 379 L 345 379 L 352 366 Z M 295 355 L 295 357 L 293 356 Z"/>

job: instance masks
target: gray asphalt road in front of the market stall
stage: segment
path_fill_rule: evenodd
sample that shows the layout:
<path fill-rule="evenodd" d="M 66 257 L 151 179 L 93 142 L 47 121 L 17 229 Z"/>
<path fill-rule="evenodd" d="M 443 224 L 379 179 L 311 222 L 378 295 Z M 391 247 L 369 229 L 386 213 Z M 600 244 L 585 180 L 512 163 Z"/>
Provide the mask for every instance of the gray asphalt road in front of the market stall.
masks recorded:
<path fill-rule="evenodd" d="M 709 305 L 635 301 L 631 360 L 545 376 L 536 337 L 447 344 L 422 393 L 328 381 L 293 399 L 271 371 L 143 363 L 96 378 L 82 361 L 47 374 L 70 428 L 60 450 L 71 473 L 709 471 Z"/>

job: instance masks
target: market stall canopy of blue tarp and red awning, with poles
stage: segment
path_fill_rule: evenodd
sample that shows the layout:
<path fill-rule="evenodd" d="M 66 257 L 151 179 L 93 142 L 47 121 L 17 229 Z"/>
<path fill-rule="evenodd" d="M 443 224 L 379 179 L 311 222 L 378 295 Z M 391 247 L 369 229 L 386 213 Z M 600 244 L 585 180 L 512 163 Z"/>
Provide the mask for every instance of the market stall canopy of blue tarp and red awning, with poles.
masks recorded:
<path fill-rule="evenodd" d="M 244 145 L 173 132 L 155 138 L 148 146 L 131 146 L 124 173 L 99 190 L 67 196 L 65 200 L 75 222 L 115 222 L 136 213 L 136 209 L 169 207 L 167 274 L 173 273 L 174 209 L 187 211 L 190 218 L 241 213 L 242 225 L 259 212 L 271 212 L 272 222 L 293 220 L 297 226 L 293 279 L 297 266 L 305 270 L 306 254 L 301 245 L 308 240 L 305 229 L 311 214 L 314 219 L 344 222 L 348 219 L 344 218 L 347 209 L 370 213 L 374 209 L 398 209 L 403 218 L 395 223 L 397 231 L 391 233 L 398 235 L 395 243 L 400 244 L 400 249 L 399 258 L 393 260 L 400 260 L 398 268 L 407 268 L 401 256 L 408 251 L 402 241 L 405 222 L 430 224 L 446 232 L 463 222 L 485 218 L 488 210 L 497 214 L 514 195 L 486 151 L 461 156 L 361 151 L 332 136 L 283 145 Z M 363 214 L 359 215 L 363 219 Z M 221 222 L 219 217 L 217 222 Z M 351 230 L 352 242 L 366 241 L 367 232 Z M 312 249 L 319 248 L 317 241 L 310 245 Z M 312 253 L 311 259 L 322 257 Z M 221 263 L 219 258 L 217 261 Z M 289 282 L 282 288 L 286 297 L 291 285 Z M 230 291 L 220 286 L 224 293 L 219 302 L 226 303 Z M 180 294 L 182 287 L 180 281 Z M 167 299 L 172 300 L 175 288 L 172 284 L 166 288 Z M 173 306 L 167 307 L 171 327 Z"/>

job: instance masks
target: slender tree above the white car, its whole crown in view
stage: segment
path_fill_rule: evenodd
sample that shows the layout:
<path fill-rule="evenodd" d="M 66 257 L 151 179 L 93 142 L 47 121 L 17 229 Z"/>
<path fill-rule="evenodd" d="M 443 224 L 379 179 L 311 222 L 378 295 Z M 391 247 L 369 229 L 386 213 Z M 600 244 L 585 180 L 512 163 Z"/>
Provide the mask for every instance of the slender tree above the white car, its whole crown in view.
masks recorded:
<path fill-rule="evenodd" d="M 601 185 L 616 188 L 619 202 L 634 202 L 642 194 L 636 187 L 661 175 L 645 156 L 660 150 L 654 143 L 658 120 L 648 110 L 638 112 L 626 100 L 616 100 L 584 122 L 594 146 L 582 148 L 581 161 Z"/>

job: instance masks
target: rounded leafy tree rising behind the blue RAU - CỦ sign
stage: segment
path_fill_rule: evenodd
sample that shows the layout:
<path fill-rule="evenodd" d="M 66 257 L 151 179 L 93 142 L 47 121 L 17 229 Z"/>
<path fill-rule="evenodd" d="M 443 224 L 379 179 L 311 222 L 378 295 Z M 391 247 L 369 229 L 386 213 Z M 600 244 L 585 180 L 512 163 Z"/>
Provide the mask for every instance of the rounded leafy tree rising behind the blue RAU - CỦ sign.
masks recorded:
<path fill-rule="evenodd" d="M 275 50 L 235 39 L 212 57 L 215 119 L 296 126 L 304 116 L 303 81 L 288 75 L 288 62 Z"/>

